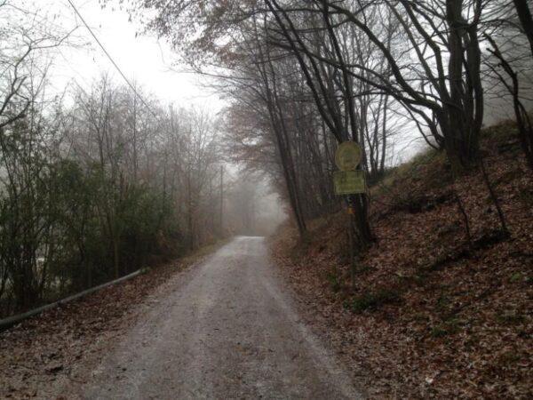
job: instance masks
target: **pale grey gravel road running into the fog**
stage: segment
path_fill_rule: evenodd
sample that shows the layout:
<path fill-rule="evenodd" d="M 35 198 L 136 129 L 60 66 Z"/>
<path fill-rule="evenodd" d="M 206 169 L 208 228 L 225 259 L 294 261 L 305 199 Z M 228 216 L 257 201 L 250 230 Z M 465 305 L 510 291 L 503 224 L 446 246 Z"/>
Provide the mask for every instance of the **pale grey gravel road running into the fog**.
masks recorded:
<path fill-rule="evenodd" d="M 312 334 L 262 237 L 171 279 L 79 388 L 82 398 L 362 398 Z"/>

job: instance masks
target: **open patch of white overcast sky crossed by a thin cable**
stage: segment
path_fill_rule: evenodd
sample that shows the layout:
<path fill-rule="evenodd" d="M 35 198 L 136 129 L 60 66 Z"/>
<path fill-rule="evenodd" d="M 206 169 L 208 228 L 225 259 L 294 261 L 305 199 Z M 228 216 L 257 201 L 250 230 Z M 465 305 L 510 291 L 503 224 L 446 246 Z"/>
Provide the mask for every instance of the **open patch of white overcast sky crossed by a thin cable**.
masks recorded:
<path fill-rule="evenodd" d="M 163 40 L 158 41 L 155 36 L 136 37 L 139 25 L 129 22 L 128 14 L 118 9 L 116 2 L 110 2 L 104 9 L 98 0 L 72 2 L 124 75 L 131 82 L 136 81 L 144 91 L 183 107 L 194 104 L 216 112 L 223 106 L 222 100 L 202 85 L 203 77 L 186 72 L 184 66 L 172 68 L 176 54 Z M 76 18 L 67 0 L 29 0 L 29 4 L 35 4 L 39 13 L 49 17 L 57 14 L 54 22 L 65 28 L 76 26 L 77 20 L 80 28 L 76 31 L 76 42 L 88 44 L 60 51 L 51 71 L 52 85 L 56 89 L 62 90 L 72 80 L 88 88 L 102 72 L 109 72 L 116 83 L 125 84 L 90 32 Z"/>

